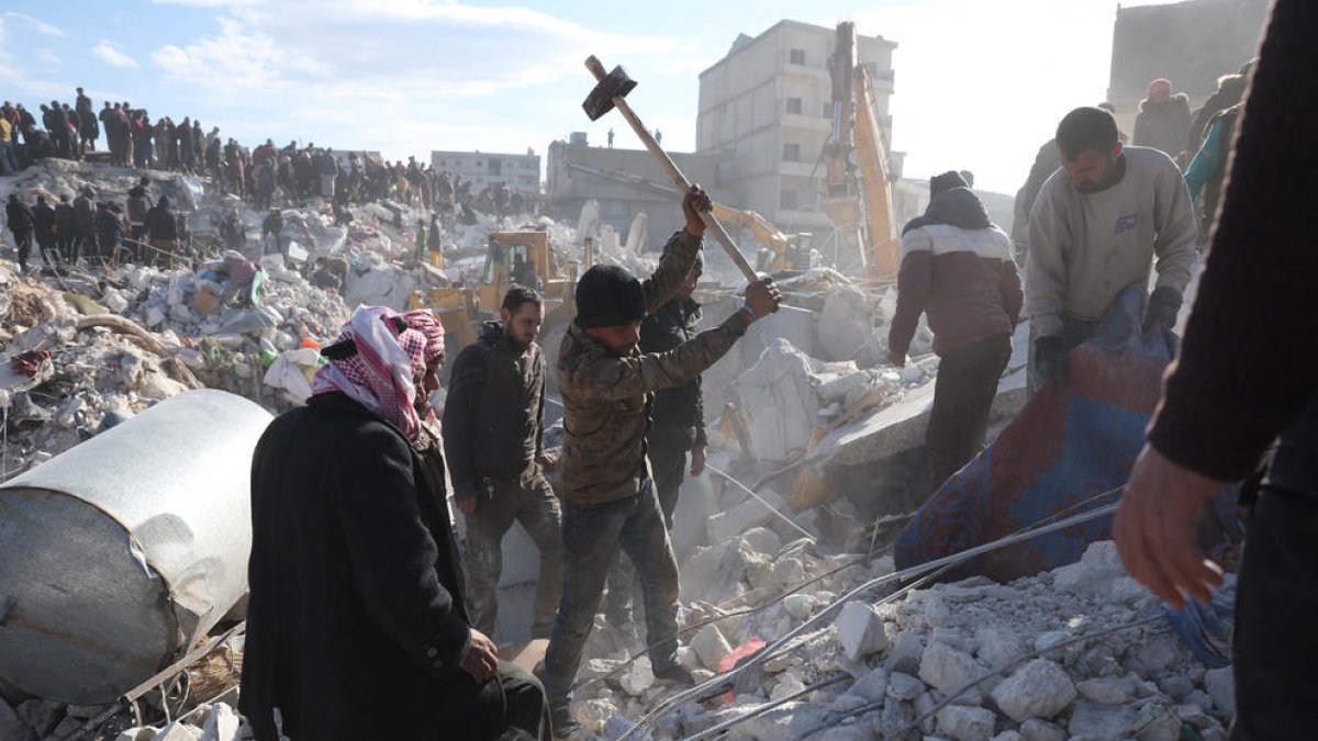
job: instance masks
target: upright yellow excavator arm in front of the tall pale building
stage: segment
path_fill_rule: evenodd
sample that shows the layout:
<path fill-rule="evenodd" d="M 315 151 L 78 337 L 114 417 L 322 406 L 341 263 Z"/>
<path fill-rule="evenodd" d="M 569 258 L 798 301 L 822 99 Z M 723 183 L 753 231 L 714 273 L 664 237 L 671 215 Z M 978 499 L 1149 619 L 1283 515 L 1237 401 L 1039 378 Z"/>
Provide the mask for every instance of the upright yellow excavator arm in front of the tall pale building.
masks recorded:
<path fill-rule="evenodd" d="M 869 283 L 892 282 L 902 256 L 892 228 L 888 153 L 874 76 L 866 65 L 858 63 L 851 21 L 837 25 L 829 73 L 833 133 L 824 148 L 824 210 L 837 227 L 838 268 L 853 274 L 863 270 Z"/>

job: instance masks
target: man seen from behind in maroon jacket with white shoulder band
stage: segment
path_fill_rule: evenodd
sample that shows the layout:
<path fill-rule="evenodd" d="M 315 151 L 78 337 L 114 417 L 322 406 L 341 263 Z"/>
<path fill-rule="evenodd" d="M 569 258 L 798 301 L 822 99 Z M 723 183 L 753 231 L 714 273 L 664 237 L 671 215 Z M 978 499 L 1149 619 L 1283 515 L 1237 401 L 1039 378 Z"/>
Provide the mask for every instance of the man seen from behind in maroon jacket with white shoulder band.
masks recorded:
<path fill-rule="evenodd" d="M 938 485 L 985 442 L 1024 294 L 1011 237 L 988 220 L 966 181 L 948 171 L 929 181 L 929 193 L 924 216 L 902 232 L 888 361 L 905 365 L 920 314 L 928 312 L 941 361 L 925 447 Z"/>

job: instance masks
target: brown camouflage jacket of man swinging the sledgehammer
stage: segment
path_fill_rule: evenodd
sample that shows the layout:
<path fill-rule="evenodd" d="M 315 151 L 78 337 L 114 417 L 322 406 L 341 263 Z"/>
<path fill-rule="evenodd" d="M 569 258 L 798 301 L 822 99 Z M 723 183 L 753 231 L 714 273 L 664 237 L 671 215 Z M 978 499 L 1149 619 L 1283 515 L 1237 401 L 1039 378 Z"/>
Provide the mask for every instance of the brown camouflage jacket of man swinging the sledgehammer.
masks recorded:
<path fill-rule="evenodd" d="M 646 312 L 676 293 L 691 270 L 700 239 L 677 232 L 645 281 Z M 646 431 L 654 392 L 689 382 L 714 364 L 746 332 L 737 311 L 722 324 L 696 335 L 668 352 L 618 357 L 587 336 L 576 322 L 559 351 L 559 390 L 563 394 L 563 484 L 568 501 L 604 504 L 630 497 L 650 477 Z"/>

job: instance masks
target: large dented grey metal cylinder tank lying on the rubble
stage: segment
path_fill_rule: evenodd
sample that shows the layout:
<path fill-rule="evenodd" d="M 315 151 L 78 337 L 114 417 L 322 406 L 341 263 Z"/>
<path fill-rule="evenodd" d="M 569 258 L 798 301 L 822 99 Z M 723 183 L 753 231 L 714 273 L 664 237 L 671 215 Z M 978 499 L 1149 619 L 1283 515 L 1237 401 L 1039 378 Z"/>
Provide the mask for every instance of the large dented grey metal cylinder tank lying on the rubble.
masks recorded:
<path fill-rule="evenodd" d="M 192 390 L 0 487 L 0 684 L 108 703 L 214 628 L 246 593 L 270 419 Z"/>

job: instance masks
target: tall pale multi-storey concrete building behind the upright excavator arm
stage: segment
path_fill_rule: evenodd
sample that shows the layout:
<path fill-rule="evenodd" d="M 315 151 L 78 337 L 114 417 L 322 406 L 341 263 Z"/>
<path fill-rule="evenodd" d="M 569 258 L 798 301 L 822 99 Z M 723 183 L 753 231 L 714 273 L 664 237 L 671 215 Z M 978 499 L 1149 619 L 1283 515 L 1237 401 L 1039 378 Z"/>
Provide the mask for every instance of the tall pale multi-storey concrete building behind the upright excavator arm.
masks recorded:
<path fill-rule="evenodd" d="M 728 55 L 700 73 L 697 153 L 730 153 L 720 169 L 730 203 L 759 212 L 786 232 L 811 232 L 825 247 L 833 224 L 821 207 L 824 146 L 833 128 L 829 58 L 837 32 L 779 21 L 755 38 L 742 34 Z M 892 140 L 892 50 L 878 36 L 857 36 L 857 57 L 874 78 L 876 117 Z M 902 157 L 890 153 L 890 174 Z M 731 199 L 729 196 L 729 200 Z"/>

